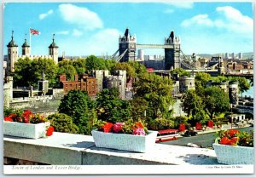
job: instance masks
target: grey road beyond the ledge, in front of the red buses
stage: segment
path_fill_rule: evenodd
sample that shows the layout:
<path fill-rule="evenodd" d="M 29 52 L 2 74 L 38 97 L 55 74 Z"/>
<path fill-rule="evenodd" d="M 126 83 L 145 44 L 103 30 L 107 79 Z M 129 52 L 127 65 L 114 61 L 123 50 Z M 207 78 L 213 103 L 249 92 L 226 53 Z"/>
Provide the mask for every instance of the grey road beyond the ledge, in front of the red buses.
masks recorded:
<path fill-rule="evenodd" d="M 241 131 L 251 131 L 253 130 L 252 127 L 248 128 L 238 128 Z M 170 140 L 166 142 L 161 142 L 160 144 L 166 144 L 166 145 L 177 145 L 177 146 L 187 146 L 188 143 L 193 143 L 198 146 L 202 147 L 212 147 L 212 144 L 214 143 L 214 140 L 217 137 L 217 133 L 208 133 L 208 134 L 199 134 L 197 136 L 191 136 L 191 137 L 181 137 L 177 140 Z"/>

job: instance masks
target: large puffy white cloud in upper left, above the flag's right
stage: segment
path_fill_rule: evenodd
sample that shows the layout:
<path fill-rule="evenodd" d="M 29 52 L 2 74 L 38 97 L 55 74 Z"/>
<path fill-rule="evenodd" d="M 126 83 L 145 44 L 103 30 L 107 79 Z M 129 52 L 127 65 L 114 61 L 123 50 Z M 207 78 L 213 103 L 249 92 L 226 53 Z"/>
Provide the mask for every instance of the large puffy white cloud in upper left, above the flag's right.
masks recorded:
<path fill-rule="evenodd" d="M 80 8 L 72 4 L 61 4 L 59 6 L 61 17 L 70 24 L 78 25 L 84 30 L 102 28 L 102 20 L 98 14 L 86 8 Z"/>

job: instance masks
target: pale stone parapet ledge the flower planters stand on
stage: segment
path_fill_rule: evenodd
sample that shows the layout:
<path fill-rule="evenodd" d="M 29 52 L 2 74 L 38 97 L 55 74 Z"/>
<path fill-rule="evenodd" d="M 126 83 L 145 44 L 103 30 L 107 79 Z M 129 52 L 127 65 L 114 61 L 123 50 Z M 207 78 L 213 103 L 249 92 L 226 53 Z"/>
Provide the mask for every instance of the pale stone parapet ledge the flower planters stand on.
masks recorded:
<path fill-rule="evenodd" d="M 147 153 L 118 151 L 96 147 L 92 136 L 58 132 L 38 140 L 4 135 L 3 156 L 52 165 L 218 164 L 214 150 L 155 144 Z"/>

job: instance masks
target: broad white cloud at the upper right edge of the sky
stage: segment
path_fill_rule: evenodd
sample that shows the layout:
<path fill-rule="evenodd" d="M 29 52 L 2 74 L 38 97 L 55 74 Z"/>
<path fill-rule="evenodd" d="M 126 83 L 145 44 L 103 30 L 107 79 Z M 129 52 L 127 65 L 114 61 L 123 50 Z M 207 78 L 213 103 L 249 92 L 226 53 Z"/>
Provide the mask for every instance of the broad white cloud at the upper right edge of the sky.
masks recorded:
<path fill-rule="evenodd" d="M 230 6 L 218 7 L 216 11 L 220 17 L 215 20 L 211 20 L 208 14 L 198 14 L 190 19 L 183 20 L 181 26 L 208 26 L 236 33 L 253 34 L 252 18 L 241 14 L 239 10 Z"/>

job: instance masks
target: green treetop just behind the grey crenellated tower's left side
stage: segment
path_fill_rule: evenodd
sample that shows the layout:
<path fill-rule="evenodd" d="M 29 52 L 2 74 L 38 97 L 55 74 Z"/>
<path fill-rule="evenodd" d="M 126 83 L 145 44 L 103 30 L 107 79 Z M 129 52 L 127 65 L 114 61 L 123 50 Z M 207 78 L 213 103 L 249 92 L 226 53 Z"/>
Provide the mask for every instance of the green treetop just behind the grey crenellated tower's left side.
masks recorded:
<path fill-rule="evenodd" d="M 105 60 L 97 58 L 95 55 L 90 55 L 86 59 L 86 70 L 105 70 Z"/>

